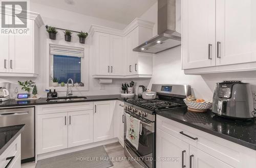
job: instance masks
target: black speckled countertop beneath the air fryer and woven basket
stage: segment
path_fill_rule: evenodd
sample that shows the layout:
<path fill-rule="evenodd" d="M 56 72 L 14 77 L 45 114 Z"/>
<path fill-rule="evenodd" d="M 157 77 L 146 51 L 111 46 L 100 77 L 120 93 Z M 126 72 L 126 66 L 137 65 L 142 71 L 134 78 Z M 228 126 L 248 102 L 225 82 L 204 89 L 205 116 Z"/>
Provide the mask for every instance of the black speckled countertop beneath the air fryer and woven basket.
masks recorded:
<path fill-rule="evenodd" d="M 197 113 L 190 112 L 185 108 L 172 110 L 172 112 L 158 111 L 157 114 L 256 150 L 256 119 L 236 121 L 217 116 L 211 111 Z"/>

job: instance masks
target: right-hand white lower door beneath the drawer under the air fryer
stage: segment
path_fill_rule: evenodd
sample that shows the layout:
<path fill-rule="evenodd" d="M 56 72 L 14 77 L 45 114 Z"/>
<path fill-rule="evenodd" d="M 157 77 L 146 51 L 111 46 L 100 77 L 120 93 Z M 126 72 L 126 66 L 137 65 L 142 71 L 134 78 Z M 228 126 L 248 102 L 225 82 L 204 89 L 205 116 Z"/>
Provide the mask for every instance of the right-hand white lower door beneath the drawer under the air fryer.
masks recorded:
<path fill-rule="evenodd" d="M 191 159 L 191 168 L 233 168 L 223 161 L 204 153 L 193 146 L 189 146 L 189 155 Z"/>

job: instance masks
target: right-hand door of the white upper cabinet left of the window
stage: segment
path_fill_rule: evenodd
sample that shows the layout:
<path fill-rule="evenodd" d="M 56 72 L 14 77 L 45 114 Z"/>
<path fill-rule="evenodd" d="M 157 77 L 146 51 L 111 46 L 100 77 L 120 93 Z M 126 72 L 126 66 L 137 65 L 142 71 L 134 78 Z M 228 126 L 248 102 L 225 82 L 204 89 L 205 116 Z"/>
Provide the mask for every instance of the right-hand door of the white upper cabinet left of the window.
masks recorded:
<path fill-rule="evenodd" d="M 27 34 L 10 36 L 10 73 L 34 73 L 34 21 L 27 20 Z"/>

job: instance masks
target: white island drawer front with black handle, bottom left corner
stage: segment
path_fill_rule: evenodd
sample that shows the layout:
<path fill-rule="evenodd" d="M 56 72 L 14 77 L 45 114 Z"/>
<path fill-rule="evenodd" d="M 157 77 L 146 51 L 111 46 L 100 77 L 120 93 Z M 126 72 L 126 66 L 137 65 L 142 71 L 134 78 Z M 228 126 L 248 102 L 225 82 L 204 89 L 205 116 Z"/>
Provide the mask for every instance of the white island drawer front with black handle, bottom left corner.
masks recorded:
<path fill-rule="evenodd" d="M 8 166 L 11 167 L 15 160 L 20 156 L 20 135 L 11 143 L 11 145 L 5 150 L 5 152 L 0 156 L 0 167 L 5 167 L 10 160 L 6 160 L 8 157 L 13 157 L 12 162 Z M 19 158 L 20 161 L 20 158 Z"/>

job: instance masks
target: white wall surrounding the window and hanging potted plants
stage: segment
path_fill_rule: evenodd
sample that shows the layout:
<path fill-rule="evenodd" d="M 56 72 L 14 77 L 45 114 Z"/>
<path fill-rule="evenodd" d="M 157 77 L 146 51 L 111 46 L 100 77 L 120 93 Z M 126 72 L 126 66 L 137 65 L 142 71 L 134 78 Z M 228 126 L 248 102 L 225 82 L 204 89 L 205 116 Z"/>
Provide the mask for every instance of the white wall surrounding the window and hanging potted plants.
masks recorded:
<path fill-rule="evenodd" d="M 62 29 L 69 29 L 74 31 L 83 31 L 88 32 L 90 29 L 90 26 L 92 24 L 94 25 L 100 25 L 115 29 L 124 29 L 126 25 L 104 20 L 100 18 L 95 18 L 91 16 L 86 16 L 74 12 L 69 12 L 66 10 L 61 10 L 57 8 L 52 8 L 40 4 L 34 4 L 31 3 L 30 11 L 40 13 L 42 19 L 44 20 L 45 25 L 54 26 L 57 28 Z M 57 33 L 57 39 L 58 40 L 64 40 L 63 39 L 63 32 L 58 30 Z M 44 93 L 44 90 L 46 88 L 46 78 L 48 78 L 48 75 L 46 75 L 46 63 L 48 60 L 46 60 L 46 39 L 48 38 L 48 33 L 45 30 L 45 27 L 42 26 L 40 28 L 40 71 L 39 76 L 37 78 L 0 78 L 1 81 L 11 82 L 10 86 L 10 92 L 12 97 L 16 97 L 16 93 L 14 92 L 15 88 L 18 88 L 18 92 L 25 92 L 20 90 L 20 87 L 17 85 L 17 81 L 26 81 L 26 80 L 33 80 L 36 82 L 37 88 L 38 88 L 38 94 L 42 97 L 46 97 L 46 93 Z M 78 37 L 76 34 L 73 34 L 72 42 L 78 42 Z M 68 42 L 67 42 L 68 44 Z M 90 58 L 90 65 L 92 65 L 92 59 Z M 121 83 L 122 82 L 131 82 L 131 80 L 114 80 L 112 84 L 106 84 L 106 85 L 100 85 L 98 83 L 97 79 L 92 78 L 92 66 L 90 66 L 90 78 L 89 78 L 89 91 L 80 91 L 80 92 L 73 92 L 74 95 L 97 95 L 97 94 L 118 94 L 120 93 L 121 89 Z M 136 84 L 136 87 L 138 85 L 145 85 L 149 83 L 149 80 L 133 80 Z M 135 89 L 137 90 L 137 89 Z M 66 95 L 66 92 L 58 92 L 59 95 Z"/>

